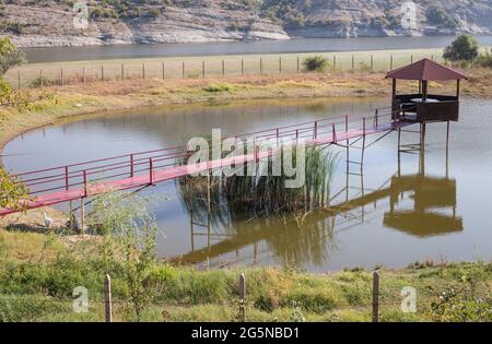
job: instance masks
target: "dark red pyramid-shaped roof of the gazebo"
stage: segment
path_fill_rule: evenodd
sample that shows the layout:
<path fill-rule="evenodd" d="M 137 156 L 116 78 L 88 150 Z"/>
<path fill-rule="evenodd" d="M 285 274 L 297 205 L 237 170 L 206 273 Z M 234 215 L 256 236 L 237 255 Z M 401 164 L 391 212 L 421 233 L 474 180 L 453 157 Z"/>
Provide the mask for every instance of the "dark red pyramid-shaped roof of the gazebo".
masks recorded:
<path fill-rule="evenodd" d="M 447 66 L 422 59 L 412 64 L 395 69 L 386 74 L 386 78 L 424 81 L 448 81 L 468 79 L 465 72 Z"/>

